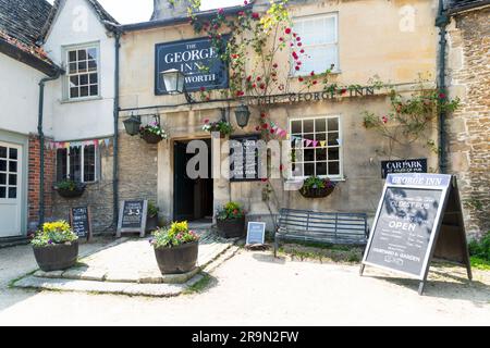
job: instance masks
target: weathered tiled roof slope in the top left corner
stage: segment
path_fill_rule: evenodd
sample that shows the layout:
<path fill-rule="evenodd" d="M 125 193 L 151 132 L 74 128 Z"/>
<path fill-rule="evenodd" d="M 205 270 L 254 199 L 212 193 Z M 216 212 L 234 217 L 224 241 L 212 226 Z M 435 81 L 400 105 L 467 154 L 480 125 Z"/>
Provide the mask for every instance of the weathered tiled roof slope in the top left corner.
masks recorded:
<path fill-rule="evenodd" d="M 0 32 L 24 45 L 35 45 L 51 5 L 46 0 L 0 0 Z"/>

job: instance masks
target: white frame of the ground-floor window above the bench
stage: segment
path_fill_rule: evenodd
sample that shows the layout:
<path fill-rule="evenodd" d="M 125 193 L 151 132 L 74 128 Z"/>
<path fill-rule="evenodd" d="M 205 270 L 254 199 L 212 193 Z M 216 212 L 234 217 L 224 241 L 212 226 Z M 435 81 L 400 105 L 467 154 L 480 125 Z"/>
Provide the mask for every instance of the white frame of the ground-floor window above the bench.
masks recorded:
<path fill-rule="evenodd" d="M 339 146 L 328 146 L 328 144 L 327 144 L 327 171 L 328 171 L 328 149 L 329 148 L 339 148 L 339 174 L 338 175 L 318 175 L 318 177 L 321 177 L 321 178 L 330 178 L 331 181 L 334 181 L 334 182 L 340 182 L 340 181 L 344 181 L 344 135 L 343 135 L 343 125 L 342 125 L 342 117 L 341 117 L 341 115 L 340 114 L 334 114 L 334 115 L 318 115 L 318 116 L 306 116 L 306 117 L 291 117 L 290 120 L 289 120 L 289 134 L 291 135 L 291 139 L 290 139 L 290 141 L 292 141 L 293 140 L 293 137 L 294 136 L 297 136 L 297 133 L 295 133 L 295 134 L 293 134 L 293 127 L 292 127 L 292 124 L 293 124 L 293 122 L 294 121 L 310 121 L 310 120 L 313 120 L 314 121 L 314 134 L 317 134 L 317 132 L 316 132 L 316 123 L 315 123 L 315 121 L 316 120 L 318 120 L 318 119 L 324 119 L 326 120 L 326 122 L 327 122 L 327 120 L 328 119 L 336 119 L 338 120 L 338 122 L 339 122 L 339 139 L 340 139 L 340 144 L 339 144 Z M 328 124 L 328 123 L 327 123 Z M 328 134 L 329 134 L 330 132 L 328 132 L 328 129 L 327 129 L 327 140 L 326 141 L 328 141 Z M 333 133 L 333 132 L 332 132 Z M 305 133 L 304 133 L 304 129 L 302 128 L 302 138 L 303 138 L 303 135 L 304 135 Z M 292 147 L 291 148 L 293 151 L 295 150 L 295 148 L 294 147 Z M 313 148 L 313 147 L 305 147 L 305 146 L 303 146 L 302 147 L 302 149 L 315 149 L 315 148 Z M 304 154 L 303 154 L 304 156 Z M 321 161 L 320 161 L 321 162 Z M 290 171 L 289 171 L 289 173 L 287 173 L 287 175 L 289 175 L 289 181 L 292 181 L 292 182 L 296 182 L 296 181 L 304 181 L 304 179 L 306 179 L 306 178 L 308 178 L 308 177 L 310 177 L 311 175 L 305 175 L 305 166 L 304 166 L 304 164 L 305 164 L 305 161 L 302 161 L 302 163 L 303 163 L 303 176 L 294 176 L 293 175 L 293 165 L 291 165 L 291 167 L 290 167 Z M 315 160 L 315 161 L 313 161 L 313 162 L 310 162 L 310 161 L 308 161 L 308 163 L 315 163 L 315 165 L 317 164 L 317 161 Z M 293 164 L 293 162 L 291 163 L 291 164 Z"/>

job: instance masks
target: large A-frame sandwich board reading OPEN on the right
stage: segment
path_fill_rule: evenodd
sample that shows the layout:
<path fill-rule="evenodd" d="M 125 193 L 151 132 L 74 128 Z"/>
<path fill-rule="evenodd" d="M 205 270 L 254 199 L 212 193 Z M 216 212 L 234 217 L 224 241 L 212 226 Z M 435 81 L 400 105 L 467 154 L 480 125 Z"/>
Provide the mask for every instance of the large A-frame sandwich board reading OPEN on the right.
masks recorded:
<path fill-rule="evenodd" d="M 420 281 L 424 293 L 432 258 L 466 266 L 471 279 L 456 177 L 389 174 L 360 266 L 394 271 Z"/>

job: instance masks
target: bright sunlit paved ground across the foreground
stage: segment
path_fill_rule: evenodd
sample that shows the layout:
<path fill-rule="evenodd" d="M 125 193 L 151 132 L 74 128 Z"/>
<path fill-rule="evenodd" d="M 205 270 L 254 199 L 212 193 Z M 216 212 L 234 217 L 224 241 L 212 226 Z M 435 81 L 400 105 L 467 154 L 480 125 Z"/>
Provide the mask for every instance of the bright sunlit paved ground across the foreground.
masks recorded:
<path fill-rule="evenodd" d="M 91 248 L 91 247 L 89 247 Z M 87 247 L 82 249 L 87 250 Z M 490 274 L 436 269 L 417 282 L 357 265 L 321 264 L 241 251 L 203 294 L 145 298 L 8 288 L 36 269 L 29 247 L 0 249 L 0 325 L 489 325 Z M 449 272 L 449 276 L 445 276 Z"/>

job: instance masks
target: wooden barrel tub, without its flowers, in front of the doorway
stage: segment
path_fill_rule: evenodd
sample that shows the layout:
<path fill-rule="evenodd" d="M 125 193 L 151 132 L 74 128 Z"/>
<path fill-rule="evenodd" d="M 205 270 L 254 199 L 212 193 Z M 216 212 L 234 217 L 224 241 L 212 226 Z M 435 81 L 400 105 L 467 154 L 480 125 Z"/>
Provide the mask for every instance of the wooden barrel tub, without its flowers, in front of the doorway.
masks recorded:
<path fill-rule="evenodd" d="M 182 274 L 196 268 L 199 243 L 187 243 L 174 248 L 155 248 L 161 274 Z"/>

